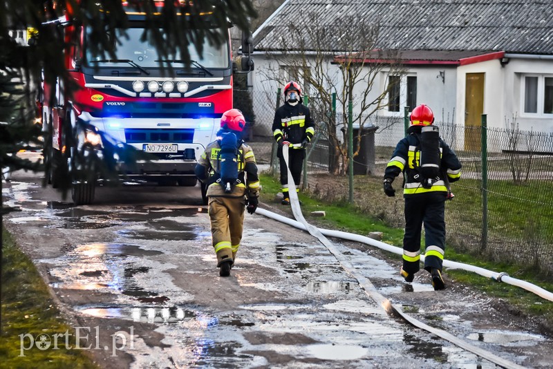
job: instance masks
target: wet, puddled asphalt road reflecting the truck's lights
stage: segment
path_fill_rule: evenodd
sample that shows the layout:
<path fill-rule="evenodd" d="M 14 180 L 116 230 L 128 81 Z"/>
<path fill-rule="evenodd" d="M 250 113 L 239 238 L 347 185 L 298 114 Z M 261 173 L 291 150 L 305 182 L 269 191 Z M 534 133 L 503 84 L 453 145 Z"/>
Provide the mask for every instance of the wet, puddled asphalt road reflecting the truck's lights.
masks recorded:
<path fill-rule="evenodd" d="M 198 187 L 100 187 L 95 205 L 73 207 L 40 175 L 3 184 L 5 205 L 21 209 L 4 223 L 104 368 L 496 368 L 388 316 L 306 232 L 246 214 L 221 278 Z M 519 365 L 553 362 L 550 338 L 485 296 L 434 292 L 424 275 L 411 292 L 379 250 L 335 244 L 417 319 Z"/>

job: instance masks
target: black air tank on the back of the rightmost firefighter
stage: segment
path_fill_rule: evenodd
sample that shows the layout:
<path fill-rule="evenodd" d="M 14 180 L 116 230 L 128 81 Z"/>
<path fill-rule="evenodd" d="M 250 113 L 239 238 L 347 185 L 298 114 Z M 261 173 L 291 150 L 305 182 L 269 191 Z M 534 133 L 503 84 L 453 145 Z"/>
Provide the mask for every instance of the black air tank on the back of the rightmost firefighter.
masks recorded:
<path fill-rule="evenodd" d="M 419 180 L 422 187 L 429 189 L 440 179 L 440 129 L 437 126 L 422 127 L 419 141 Z"/>

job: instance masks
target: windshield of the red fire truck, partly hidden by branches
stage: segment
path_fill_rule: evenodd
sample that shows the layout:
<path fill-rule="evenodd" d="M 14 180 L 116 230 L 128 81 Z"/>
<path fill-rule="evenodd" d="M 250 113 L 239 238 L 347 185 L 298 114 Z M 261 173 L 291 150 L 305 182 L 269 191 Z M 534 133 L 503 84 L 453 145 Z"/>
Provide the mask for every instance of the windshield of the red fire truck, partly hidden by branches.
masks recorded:
<path fill-rule="evenodd" d="M 115 50 L 115 58 L 105 58 L 100 55 L 92 55 L 91 51 L 86 48 L 86 60 L 95 66 L 109 66 L 113 68 L 114 64 L 118 68 L 129 67 L 129 61 L 140 65 L 143 68 L 159 68 L 160 63 L 156 47 L 148 40 L 141 41 L 140 37 L 144 32 L 144 28 L 128 28 L 126 35 L 128 37 L 119 37 L 117 41 L 117 50 Z M 207 39 L 203 43 L 203 55 L 200 57 L 194 45 L 189 45 L 188 52 L 190 59 L 196 61 L 191 63 L 191 68 L 229 68 L 229 45 L 228 41 L 225 44 L 217 47 L 210 45 Z M 182 59 L 180 55 L 176 55 L 174 59 Z M 120 62 L 118 62 L 120 61 Z M 120 64 L 120 65 L 118 65 Z M 200 64 L 200 66 L 198 66 Z"/>

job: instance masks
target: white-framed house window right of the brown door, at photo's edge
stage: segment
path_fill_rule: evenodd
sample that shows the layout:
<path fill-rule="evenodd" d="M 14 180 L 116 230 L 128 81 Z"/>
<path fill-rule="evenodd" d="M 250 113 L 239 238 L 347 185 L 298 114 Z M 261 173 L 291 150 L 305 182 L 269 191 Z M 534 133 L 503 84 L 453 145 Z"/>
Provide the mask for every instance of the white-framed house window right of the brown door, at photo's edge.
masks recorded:
<path fill-rule="evenodd" d="M 553 114 L 553 76 L 523 77 L 523 109 L 526 114 Z"/>

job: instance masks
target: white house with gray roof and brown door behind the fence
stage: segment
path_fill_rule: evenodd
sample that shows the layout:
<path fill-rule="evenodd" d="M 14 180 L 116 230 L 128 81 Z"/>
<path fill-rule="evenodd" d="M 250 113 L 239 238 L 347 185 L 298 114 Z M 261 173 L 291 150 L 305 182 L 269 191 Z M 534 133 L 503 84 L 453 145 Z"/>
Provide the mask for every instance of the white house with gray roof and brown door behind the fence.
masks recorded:
<path fill-rule="evenodd" d="M 506 128 L 516 116 L 520 129 L 553 133 L 551 0 L 285 0 L 254 32 L 254 96 L 287 82 L 287 66 L 276 61 L 280 40 L 290 37 L 288 25 L 302 24 L 308 14 L 322 26 L 354 16 L 379 24 L 379 48 L 399 53 L 407 74 L 397 96 L 388 95 L 395 103 L 378 114 L 403 115 L 404 106 L 424 103 L 437 120 L 480 126 L 486 114 L 489 127 Z M 327 47 L 339 55 L 336 45 Z M 280 86 L 264 77 L 275 68 Z M 375 79 L 380 91 L 387 83 L 384 73 Z M 272 121 L 266 103 L 254 99 L 254 110 L 263 122 Z"/>

